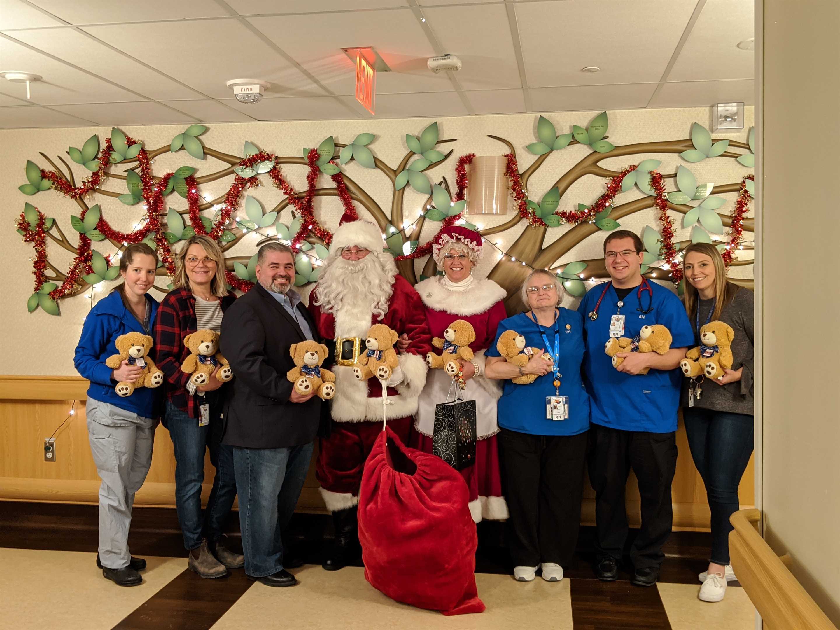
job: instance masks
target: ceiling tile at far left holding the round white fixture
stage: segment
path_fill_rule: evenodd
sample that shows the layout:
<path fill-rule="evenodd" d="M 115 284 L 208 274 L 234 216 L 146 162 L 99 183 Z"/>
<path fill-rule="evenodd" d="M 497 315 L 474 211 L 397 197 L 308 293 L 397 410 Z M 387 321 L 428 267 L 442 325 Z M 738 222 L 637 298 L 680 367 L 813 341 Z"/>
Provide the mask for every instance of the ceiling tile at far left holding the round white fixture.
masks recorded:
<path fill-rule="evenodd" d="M 43 76 L 42 81 L 31 86 L 32 100 L 39 105 L 91 101 L 136 101 L 136 94 L 115 87 L 85 72 L 29 50 L 6 38 L 0 38 L 0 60 L 14 70 L 34 72 Z M 5 70 L 6 68 L 3 68 Z M 23 84 L 0 81 L 0 92 L 15 97 L 25 97 Z"/>

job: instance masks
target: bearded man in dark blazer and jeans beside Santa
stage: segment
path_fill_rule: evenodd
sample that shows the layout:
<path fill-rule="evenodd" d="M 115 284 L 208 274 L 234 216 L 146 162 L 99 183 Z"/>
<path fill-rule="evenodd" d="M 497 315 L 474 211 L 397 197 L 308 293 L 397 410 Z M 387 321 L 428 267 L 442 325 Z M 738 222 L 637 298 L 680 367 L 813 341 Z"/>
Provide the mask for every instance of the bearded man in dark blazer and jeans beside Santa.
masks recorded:
<path fill-rule="evenodd" d="M 245 574 L 269 586 L 297 583 L 283 567 L 281 531 L 301 494 L 318 433 L 321 400 L 286 379 L 289 349 L 317 328 L 295 284 L 291 249 L 269 243 L 257 253 L 258 284 L 228 308 L 222 354 L 234 371 L 223 414 L 223 444 L 234 447 Z"/>

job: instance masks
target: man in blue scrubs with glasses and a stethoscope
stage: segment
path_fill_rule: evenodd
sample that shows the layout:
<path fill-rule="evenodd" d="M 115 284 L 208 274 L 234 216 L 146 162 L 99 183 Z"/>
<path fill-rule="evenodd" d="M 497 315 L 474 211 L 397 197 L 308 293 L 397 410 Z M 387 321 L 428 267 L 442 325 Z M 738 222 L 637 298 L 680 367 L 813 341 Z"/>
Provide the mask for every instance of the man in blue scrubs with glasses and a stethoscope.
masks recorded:
<path fill-rule="evenodd" d="M 662 547 L 671 533 L 671 481 L 677 460 L 677 408 L 681 373 L 676 368 L 694 333 L 680 299 L 642 277 L 641 239 L 627 230 L 604 241 L 612 282 L 594 286 L 580 302 L 591 396 L 589 477 L 596 491 L 596 567 L 599 580 L 615 580 L 627 540 L 624 487 L 630 470 L 642 496 L 642 527 L 633 541 L 631 582 L 651 586 L 659 578 Z M 662 324 L 673 336 L 666 354 L 629 352 L 612 367 L 604 352 L 611 337 L 633 339 L 643 326 Z M 641 375 L 643 368 L 650 368 Z"/>

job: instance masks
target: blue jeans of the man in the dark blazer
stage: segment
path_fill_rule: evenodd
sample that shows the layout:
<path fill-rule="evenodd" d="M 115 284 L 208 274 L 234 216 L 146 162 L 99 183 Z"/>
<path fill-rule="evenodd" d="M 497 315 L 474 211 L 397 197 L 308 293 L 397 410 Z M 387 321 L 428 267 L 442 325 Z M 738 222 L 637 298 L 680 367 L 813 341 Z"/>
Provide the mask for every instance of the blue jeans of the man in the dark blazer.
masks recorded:
<path fill-rule="evenodd" d="M 312 445 L 310 442 L 290 449 L 233 447 L 246 574 L 263 577 L 283 570 L 281 532 L 288 526 L 301 495 Z"/>

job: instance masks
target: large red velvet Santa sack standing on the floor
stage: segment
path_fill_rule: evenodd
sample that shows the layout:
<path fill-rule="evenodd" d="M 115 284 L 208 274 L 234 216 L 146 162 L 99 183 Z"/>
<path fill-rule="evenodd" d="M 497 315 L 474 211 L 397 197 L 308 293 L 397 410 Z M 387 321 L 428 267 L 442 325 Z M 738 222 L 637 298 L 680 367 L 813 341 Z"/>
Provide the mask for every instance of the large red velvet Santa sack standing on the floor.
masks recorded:
<path fill-rule="evenodd" d="M 365 579 L 393 600 L 444 615 L 483 612 L 468 501 L 457 470 L 407 448 L 386 428 L 365 463 L 359 493 Z"/>

